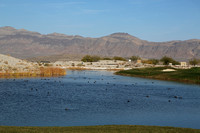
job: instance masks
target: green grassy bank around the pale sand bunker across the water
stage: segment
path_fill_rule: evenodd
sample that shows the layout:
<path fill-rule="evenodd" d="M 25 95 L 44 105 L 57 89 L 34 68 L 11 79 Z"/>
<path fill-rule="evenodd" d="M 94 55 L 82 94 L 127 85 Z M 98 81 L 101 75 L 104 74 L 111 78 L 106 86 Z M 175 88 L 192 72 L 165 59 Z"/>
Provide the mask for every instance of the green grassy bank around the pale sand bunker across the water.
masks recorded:
<path fill-rule="evenodd" d="M 170 67 L 137 68 L 116 72 L 118 75 L 134 77 L 152 78 L 160 80 L 171 80 L 186 83 L 200 84 L 200 68 L 175 69 L 173 72 L 163 72 L 164 69 L 174 69 Z"/>

